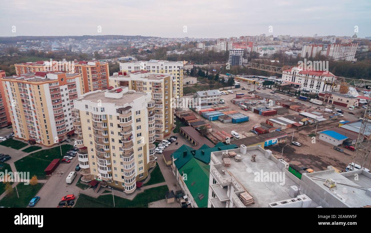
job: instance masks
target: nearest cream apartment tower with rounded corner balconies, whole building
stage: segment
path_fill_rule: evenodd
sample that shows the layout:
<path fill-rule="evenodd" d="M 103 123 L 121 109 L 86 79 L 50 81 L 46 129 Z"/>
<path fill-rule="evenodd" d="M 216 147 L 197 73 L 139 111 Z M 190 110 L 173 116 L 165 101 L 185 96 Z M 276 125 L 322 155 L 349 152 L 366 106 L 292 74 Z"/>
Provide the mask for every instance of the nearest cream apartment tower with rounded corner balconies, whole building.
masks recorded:
<path fill-rule="evenodd" d="M 154 101 L 150 93 L 110 88 L 75 100 L 73 125 L 78 135 L 82 180 L 96 180 L 132 193 L 155 166 Z"/>

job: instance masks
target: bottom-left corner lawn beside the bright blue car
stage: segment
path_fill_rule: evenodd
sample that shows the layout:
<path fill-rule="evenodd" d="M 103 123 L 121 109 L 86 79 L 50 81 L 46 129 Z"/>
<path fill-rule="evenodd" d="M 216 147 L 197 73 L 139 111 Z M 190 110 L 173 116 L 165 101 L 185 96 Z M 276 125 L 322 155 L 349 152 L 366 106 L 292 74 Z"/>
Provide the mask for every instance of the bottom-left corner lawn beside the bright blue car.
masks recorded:
<path fill-rule="evenodd" d="M 23 183 L 19 183 L 17 185 L 19 198 L 17 196 L 16 189 L 14 188 L 14 192 L 12 195 L 6 195 L 3 199 L 0 200 L 0 206 L 5 207 L 12 207 L 12 208 L 24 208 L 27 207 L 28 203 L 35 197 L 36 193 L 42 188 L 43 183 L 37 183 L 37 185 L 24 185 Z M 40 202 L 43 200 L 40 199 Z M 36 204 L 37 205 L 37 204 Z"/>

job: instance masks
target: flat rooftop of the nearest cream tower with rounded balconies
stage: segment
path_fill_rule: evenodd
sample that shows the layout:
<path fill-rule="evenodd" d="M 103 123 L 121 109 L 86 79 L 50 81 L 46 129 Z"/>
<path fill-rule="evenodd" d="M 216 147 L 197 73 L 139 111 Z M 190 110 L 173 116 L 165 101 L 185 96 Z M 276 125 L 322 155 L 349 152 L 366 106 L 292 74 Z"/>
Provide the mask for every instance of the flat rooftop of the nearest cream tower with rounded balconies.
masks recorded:
<path fill-rule="evenodd" d="M 117 106 L 124 106 L 127 103 L 133 102 L 143 96 L 150 95 L 150 93 L 136 92 L 129 90 L 128 87 L 119 87 L 111 90 L 97 90 L 81 95 L 76 101 L 91 101 L 93 103 L 107 103 L 115 104 Z"/>

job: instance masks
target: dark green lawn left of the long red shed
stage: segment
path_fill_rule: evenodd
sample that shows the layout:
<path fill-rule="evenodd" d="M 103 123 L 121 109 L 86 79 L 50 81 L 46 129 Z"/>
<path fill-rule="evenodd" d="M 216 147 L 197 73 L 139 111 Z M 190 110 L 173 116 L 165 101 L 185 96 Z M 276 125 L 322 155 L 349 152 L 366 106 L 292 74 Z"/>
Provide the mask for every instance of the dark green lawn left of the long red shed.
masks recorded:
<path fill-rule="evenodd" d="M 64 144 L 62 147 L 62 155 L 64 156 L 67 151 L 73 148 L 72 145 Z M 37 179 L 45 179 L 45 168 L 52 162 L 53 159 L 60 159 L 59 146 L 31 153 L 26 157 L 14 162 L 17 171 L 30 172 L 30 177 L 37 176 Z M 77 159 L 77 157 L 75 157 Z"/>

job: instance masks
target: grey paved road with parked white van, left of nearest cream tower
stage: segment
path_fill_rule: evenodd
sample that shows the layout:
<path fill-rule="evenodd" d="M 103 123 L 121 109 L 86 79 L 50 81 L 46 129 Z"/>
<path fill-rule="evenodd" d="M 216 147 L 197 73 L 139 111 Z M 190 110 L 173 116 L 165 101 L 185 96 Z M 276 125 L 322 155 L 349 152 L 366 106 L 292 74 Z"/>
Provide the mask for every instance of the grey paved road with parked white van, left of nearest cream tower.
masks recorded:
<path fill-rule="evenodd" d="M 40 201 L 37 202 L 35 207 L 56 207 L 60 199 L 69 194 L 74 194 L 77 198 L 79 192 L 72 188 L 72 184 L 66 184 L 66 177 L 70 172 L 75 170 L 78 163 L 78 157 L 75 156 L 70 163 L 61 163 L 58 166 L 43 188 L 37 193 L 36 196 L 40 196 Z M 73 183 L 78 182 L 79 178 L 80 172 L 78 172 Z"/>

